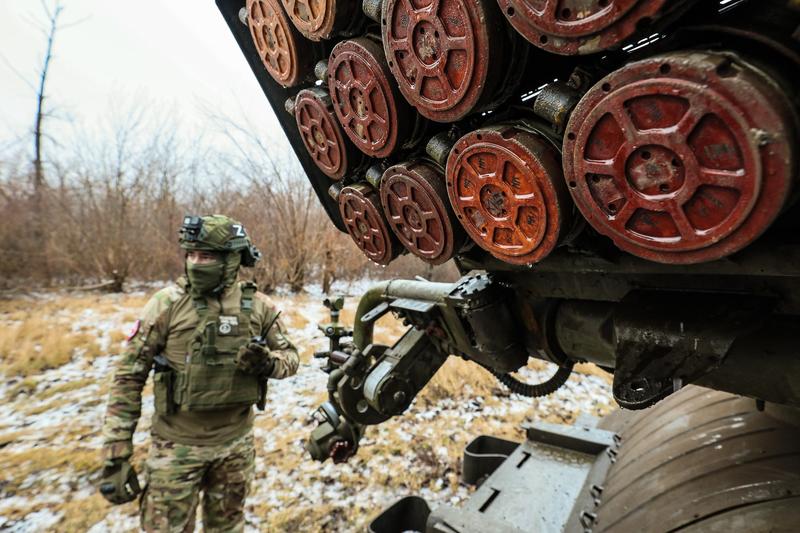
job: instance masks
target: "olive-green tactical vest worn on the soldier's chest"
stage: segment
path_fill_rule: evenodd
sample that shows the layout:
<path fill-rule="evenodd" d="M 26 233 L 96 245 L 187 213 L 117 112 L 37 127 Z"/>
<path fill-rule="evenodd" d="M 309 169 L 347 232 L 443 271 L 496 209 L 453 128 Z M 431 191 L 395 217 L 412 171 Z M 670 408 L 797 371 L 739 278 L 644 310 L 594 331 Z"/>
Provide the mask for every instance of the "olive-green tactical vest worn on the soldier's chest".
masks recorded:
<path fill-rule="evenodd" d="M 238 315 L 210 312 L 203 298 L 193 300 L 199 321 L 187 346 L 185 365 L 178 371 L 159 369 L 154 377 L 159 414 L 213 411 L 258 404 L 263 409 L 266 380 L 236 367 L 236 353 L 251 337 L 250 315 L 256 286 L 242 284 Z"/>

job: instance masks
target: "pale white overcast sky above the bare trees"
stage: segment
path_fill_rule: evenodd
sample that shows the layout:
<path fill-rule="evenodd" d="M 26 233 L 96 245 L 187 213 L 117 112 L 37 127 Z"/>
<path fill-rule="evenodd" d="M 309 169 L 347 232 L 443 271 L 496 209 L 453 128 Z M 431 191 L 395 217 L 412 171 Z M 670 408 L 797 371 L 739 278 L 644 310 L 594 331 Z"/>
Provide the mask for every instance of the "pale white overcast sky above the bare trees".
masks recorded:
<path fill-rule="evenodd" d="M 174 110 L 190 130 L 213 130 L 209 108 L 231 118 L 247 110 L 260 130 L 286 142 L 214 0 L 61 3 L 62 22 L 77 24 L 56 36 L 47 94 L 73 124 L 91 125 L 136 100 Z M 45 26 L 39 0 L 0 0 L 0 147 L 27 142 L 35 93 L 22 78 L 37 81 Z M 74 125 L 51 128 L 66 134 Z"/>

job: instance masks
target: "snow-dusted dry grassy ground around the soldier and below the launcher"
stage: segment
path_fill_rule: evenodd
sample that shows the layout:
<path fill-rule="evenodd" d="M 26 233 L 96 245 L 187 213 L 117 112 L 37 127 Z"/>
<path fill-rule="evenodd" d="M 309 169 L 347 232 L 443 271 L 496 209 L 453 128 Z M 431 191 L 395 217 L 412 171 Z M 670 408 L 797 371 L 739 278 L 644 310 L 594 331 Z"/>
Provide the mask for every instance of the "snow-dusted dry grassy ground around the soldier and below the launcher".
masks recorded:
<path fill-rule="evenodd" d="M 334 290 L 359 293 L 369 284 L 340 284 Z M 484 433 L 521 440 L 526 420 L 571 422 L 581 413 L 611 409 L 608 380 L 599 375 L 574 374 L 552 396 L 532 400 L 509 394 L 477 366 L 453 360 L 404 416 L 370 428 L 349 463 L 314 463 L 302 445 L 313 428 L 310 414 L 325 400 L 327 375 L 311 354 L 327 345 L 317 329 L 327 321 L 327 310 L 318 287 L 297 296 L 279 292 L 273 299 L 303 357 L 295 376 L 270 382 L 268 408 L 256 418 L 259 453 L 248 531 L 363 530 L 378 511 L 410 494 L 433 507 L 457 506 L 472 490 L 459 482 L 461 453 L 472 438 Z M 141 305 L 142 295 L 100 300 L 115 306 L 111 311 L 101 306 L 104 312 L 73 310 L 73 328 L 91 328 L 103 353 L 118 352 L 112 334 L 128 330 L 137 311 L 128 302 Z M 348 301 L 350 312 L 356 303 Z M 3 318 L 0 313 L 0 322 Z M 376 338 L 397 331 L 396 324 L 379 324 Z M 138 527 L 135 504 L 111 507 L 94 488 L 114 356 L 80 352 L 59 368 L 24 379 L 0 375 L 0 530 L 100 533 Z M 524 379 L 546 379 L 549 371 L 540 366 L 523 369 Z M 134 437 L 139 463 L 149 440 L 150 391 L 148 385 Z"/>

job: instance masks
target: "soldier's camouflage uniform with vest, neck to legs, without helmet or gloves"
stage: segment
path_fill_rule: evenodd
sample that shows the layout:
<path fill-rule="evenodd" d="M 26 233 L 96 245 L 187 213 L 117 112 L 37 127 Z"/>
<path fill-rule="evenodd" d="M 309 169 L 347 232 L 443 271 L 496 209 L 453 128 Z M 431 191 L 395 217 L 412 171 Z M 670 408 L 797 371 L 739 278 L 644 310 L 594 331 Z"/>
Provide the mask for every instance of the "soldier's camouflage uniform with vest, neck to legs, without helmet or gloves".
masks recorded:
<path fill-rule="evenodd" d="M 262 403 L 254 390 L 246 391 L 258 381 L 263 399 L 266 377 L 231 373 L 231 354 L 251 337 L 265 336 L 274 360 L 268 377 L 277 379 L 294 374 L 299 358 L 274 306 L 252 284 L 236 282 L 237 271 L 226 269 L 228 282 L 212 297 L 198 297 L 184 278 L 158 291 L 145 305 L 117 365 L 103 425 L 107 461 L 131 456 L 142 389 L 155 369 L 149 484 L 140 499 L 147 531 L 191 531 L 200 490 L 207 531 L 241 531 L 244 526 L 255 458 L 252 405 Z M 202 386 L 196 386 L 198 381 Z M 219 386 L 225 390 L 215 389 Z"/>

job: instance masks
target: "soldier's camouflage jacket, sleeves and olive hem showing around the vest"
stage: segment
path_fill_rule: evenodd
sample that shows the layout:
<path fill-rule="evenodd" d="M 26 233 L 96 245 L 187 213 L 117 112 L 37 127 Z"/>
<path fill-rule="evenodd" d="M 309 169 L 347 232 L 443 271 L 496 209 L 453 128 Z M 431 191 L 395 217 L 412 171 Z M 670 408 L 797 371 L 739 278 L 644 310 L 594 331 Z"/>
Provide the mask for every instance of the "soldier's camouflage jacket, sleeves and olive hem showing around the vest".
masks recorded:
<path fill-rule="evenodd" d="M 186 347 L 199 321 L 191 296 L 184 290 L 185 281 L 158 291 L 147 302 L 142 317 L 131 332 L 125 351 L 116 366 L 103 424 L 105 458 L 128 457 L 133 452 L 132 437 L 141 414 L 142 389 L 153 367 L 153 358 L 162 354 L 170 366 L 181 369 Z M 238 311 L 242 282 L 220 296 L 210 298 L 210 311 L 225 314 Z M 263 335 L 275 318 L 275 307 L 268 298 L 255 293 L 250 315 L 249 335 Z M 275 356 L 270 377 L 285 378 L 297 371 L 299 357 L 277 321 L 267 333 L 267 345 Z M 218 445 L 246 433 L 253 422 L 252 406 L 214 411 L 178 411 L 153 415 L 153 433 L 181 444 Z"/>

